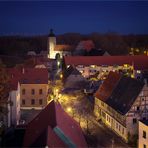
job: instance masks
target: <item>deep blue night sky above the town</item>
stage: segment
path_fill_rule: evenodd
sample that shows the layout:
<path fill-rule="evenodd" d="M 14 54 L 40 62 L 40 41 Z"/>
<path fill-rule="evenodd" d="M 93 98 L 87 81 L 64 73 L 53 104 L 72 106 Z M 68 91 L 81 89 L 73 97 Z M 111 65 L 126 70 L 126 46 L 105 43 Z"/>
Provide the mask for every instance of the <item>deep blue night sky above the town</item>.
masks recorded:
<path fill-rule="evenodd" d="M 0 35 L 148 34 L 148 1 L 0 2 Z"/>

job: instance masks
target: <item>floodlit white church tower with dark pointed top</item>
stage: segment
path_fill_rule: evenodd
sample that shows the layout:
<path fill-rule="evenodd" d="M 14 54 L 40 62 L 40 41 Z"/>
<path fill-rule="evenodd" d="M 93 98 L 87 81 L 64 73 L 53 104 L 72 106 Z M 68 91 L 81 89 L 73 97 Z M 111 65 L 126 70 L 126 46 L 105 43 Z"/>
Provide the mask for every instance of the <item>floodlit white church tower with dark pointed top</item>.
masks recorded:
<path fill-rule="evenodd" d="M 48 58 L 51 58 L 51 59 L 55 59 L 55 51 L 54 51 L 54 48 L 56 46 L 56 37 L 53 33 L 53 30 L 50 29 L 50 33 L 48 35 Z"/>

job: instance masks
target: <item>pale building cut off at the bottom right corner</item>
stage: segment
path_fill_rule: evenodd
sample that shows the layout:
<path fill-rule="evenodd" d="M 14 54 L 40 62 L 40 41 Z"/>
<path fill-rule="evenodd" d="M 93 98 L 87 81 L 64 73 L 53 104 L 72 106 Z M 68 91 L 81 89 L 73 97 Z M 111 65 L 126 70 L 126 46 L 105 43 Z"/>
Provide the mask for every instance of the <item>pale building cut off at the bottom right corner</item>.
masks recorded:
<path fill-rule="evenodd" d="M 148 147 L 148 120 L 139 121 L 138 148 Z"/>

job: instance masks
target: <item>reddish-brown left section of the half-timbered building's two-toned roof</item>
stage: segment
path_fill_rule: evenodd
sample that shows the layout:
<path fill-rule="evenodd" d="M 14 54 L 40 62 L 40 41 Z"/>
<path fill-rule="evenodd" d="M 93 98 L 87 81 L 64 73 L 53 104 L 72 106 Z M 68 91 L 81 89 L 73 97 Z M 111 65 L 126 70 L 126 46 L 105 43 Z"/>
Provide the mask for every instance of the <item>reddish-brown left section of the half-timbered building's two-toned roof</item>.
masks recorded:
<path fill-rule="evenodd" d="M 113 92 L 113 89 L 117 85 L 120 78 L 121 78 L 120 74 L 115 72 L 110 72 L 106 80 L 96 91 L 95 97 L 105 102 Z"/>

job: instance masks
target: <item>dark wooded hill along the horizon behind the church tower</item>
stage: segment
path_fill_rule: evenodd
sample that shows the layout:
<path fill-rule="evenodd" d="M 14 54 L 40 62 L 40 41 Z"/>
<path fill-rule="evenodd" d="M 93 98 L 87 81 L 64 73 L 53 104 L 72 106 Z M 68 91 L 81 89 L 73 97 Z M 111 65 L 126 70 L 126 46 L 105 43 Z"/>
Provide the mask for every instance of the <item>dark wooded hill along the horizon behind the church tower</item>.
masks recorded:
<path fill-rule="evenodd" d="M 117 33 L 66 33 L 57 36 L 58 44 L 77 45 L 81 40 L 93 40 L 97 49 L 106 50 L 111 55 L 128 54 L 131 47 L 148 49 L 148 35 L 119 35 Z M 0 55 L 24 56 L 28 51 L 39 53 L 47 50 L 47 35 L 44 36 L 1 36 Z"/>

